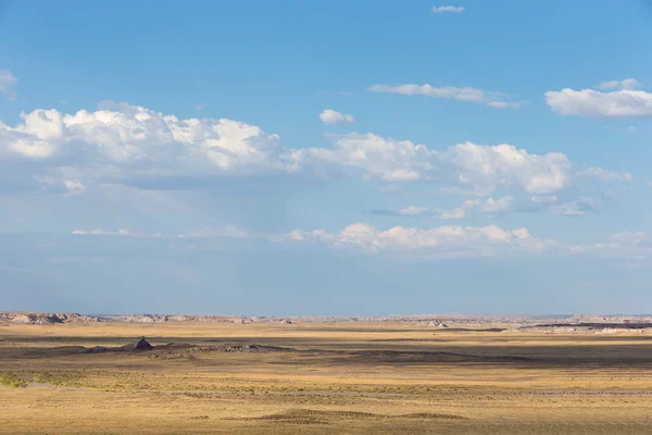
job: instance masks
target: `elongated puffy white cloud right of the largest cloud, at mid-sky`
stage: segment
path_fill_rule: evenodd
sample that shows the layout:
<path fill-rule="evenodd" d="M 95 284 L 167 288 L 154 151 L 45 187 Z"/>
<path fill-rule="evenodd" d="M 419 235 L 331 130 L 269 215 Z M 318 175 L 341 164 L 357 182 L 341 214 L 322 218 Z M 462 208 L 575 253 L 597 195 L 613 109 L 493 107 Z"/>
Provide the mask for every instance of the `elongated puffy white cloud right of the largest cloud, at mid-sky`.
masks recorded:
<path fill-rule="evenodd" d="M 297 158 L 302 163 L 356 169 L 366 177 L 386 182 L 440 182 L 486 190 L 504 186 L 530 194 L 565 188 L 570 182 L 572 166 L 562 153 L 530 154 L 511 145 L 465 142 L 435 151 L 424 145 L 374 134 L 343 135 L 336 139 L 335 149 L 298 150 Z"/>

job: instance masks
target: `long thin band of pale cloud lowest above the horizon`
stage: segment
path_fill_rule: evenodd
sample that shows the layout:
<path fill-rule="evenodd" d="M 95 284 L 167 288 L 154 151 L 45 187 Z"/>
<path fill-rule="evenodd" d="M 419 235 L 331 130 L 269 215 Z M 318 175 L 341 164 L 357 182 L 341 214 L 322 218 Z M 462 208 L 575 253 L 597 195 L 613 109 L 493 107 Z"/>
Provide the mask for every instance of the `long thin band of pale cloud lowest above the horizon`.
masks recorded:
<path fill-rule="evenodd" d="M 259 241 L 289 245 L 322 245 L 343 249 L 352 253 L 410 253 L 402 259 L 456 259 L 477 257 L 509 257 L 524 254 L 595 254 L 606 258 L 645 260 L 652 254 L 652 239 L 642 232 L 623 232 L 602 243 L 572 245 L 563 241 L 538 238 L 527 228 L 502 228 L 497 225 L 461 226 L 444 225 L 432 228 L 394 226 L 379 229 L 356 222 L 340 231 L 292 229 L 287 233 L 255 234 L 236 225 L 224 225 L 188 231 L 166 236 L 162 234 L 138 234 L 127 228 L 118 231 L 76 229 L 75 236 L 86 237 L 138 237 L 145 239 L 174 239 L 179 244 L 195 244 L 196 239 L 221 238 L 237 243 L 244 238 Z"/>

